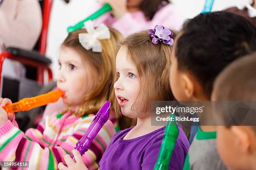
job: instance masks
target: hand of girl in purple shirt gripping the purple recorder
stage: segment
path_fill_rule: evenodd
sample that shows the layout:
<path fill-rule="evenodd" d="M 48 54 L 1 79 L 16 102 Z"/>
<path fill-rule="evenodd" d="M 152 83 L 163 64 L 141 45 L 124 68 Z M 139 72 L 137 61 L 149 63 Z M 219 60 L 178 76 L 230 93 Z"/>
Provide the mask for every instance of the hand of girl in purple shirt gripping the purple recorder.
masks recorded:
<path fill-rule="evenodd" d="M 75 163 L 70 155 L 65 155 L 64 160 L 67 163 L 67 167 L 63 163 L 58 164 L 59 170 L 88 170 L 88 168 L 84 165 L 84 162 L 82 160 L 82 156 L 80 153 L 74 149 L 72 150 L 72 153 L 74 155 L 74 158 L 77 163 Z"/>

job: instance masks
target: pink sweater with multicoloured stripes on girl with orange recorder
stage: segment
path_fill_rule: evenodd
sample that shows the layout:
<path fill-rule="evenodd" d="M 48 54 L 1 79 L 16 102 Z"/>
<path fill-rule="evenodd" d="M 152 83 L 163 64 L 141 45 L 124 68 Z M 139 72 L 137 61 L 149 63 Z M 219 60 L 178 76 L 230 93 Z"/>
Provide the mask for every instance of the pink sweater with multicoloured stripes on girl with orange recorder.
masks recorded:
<path fill-rule="evenodd" d="M 8 120 L 0 127 L 0 161 L 28 161 L 29 168 L 25 169 L 55 170 L 58 163 L 64 163 L 64 155 L 71 153 L 94 117 L 55 113 L 46 116 L 36 129 L 28 129 L 25 134 L 15 120 Z M 108 120 L 82 156 L 89 170 L 99 168 L 100 158 L 114 134 L 113 123 Z"/>

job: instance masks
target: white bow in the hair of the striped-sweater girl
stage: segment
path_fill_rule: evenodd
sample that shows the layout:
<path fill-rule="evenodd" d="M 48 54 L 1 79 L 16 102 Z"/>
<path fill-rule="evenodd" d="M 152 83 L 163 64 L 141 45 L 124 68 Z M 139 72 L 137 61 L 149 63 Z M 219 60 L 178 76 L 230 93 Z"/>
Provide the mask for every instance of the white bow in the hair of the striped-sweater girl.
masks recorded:
<path fill-rule="evenodd" d="M 92 21 L 88 20 L 84 23 L 84 28 L 87 33 L 80 33 L 78 35 L 80 44 L 86 49 L 92 49 L 93 52 L 102 52 L 102 45 L 100 40 L 110 38 L 110 32 L 106 25 L 101 24 L 96 29 L 92 25 Z"/>

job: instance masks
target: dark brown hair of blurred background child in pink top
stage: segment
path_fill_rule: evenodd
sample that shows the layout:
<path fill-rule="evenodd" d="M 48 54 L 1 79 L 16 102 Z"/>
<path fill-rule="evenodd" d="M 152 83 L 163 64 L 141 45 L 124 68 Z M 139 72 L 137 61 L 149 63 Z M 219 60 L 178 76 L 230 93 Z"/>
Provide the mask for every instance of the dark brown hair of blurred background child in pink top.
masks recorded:
<path fill-rule="evenodd" d="M 168 3 L 170 3 L 169 0 L 144 0 L 140 5 L 140 9 L 148 20 L 152 20 L 159 8 Z"/>

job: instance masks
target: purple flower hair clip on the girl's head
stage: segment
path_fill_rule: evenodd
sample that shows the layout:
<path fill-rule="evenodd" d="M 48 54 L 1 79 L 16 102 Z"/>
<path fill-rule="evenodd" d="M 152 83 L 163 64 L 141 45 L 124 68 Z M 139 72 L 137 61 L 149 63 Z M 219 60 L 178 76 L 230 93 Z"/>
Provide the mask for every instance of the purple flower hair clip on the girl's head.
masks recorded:
<path fill-rule="evenodd" d="M 151 34 L 152 43 L 157 44 L 158 41 L 164 44 L 173 45 L 174 40 L 172 39 L 173 33 L 168 28 L 164 28 L 162 25 L 156 25 L 155 29 L 148 30 L 148 34 Z"/>

